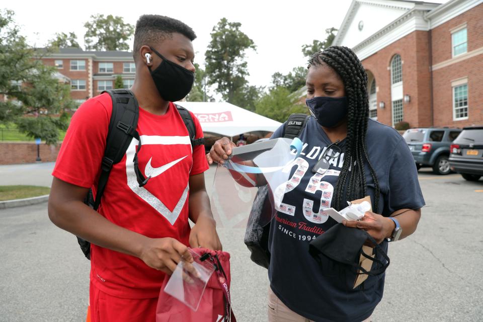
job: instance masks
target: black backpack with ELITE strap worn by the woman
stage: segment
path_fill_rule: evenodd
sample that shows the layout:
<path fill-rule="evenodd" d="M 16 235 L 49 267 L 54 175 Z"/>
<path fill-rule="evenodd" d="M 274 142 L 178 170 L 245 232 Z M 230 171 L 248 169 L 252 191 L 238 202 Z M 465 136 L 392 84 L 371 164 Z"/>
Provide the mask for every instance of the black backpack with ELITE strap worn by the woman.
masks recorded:
<path fill-rule="evenodd" d="M 293 139 L 298 137 L 309 116 L 301 113 L 294 113 L 289 116 L 285 123 L 283 137 Z M 263 225 L 260 223 L 262 213 L 271 211 L 271 205 L 268 198 L 268 186 L 262 186 L 258 189 L 253 201 L 252 210 L 245 230 L 244 242 L 252 253 L 250 259 L 257 265 L 268 268 L 270 264 L 270 250 L 268 249 L 268 237 L 270 234 L 270 222 Z"/>

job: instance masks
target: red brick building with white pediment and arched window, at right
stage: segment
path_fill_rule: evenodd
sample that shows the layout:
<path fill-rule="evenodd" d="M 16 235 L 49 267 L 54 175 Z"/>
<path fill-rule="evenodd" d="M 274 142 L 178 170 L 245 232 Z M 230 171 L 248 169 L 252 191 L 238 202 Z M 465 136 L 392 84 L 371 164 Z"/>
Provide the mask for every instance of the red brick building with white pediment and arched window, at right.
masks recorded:
<path fill-rule="evenodd" d="M 379 122 L 483 125 L 482 0 L 353 0 L 333 44 L 362 61 Z"/>

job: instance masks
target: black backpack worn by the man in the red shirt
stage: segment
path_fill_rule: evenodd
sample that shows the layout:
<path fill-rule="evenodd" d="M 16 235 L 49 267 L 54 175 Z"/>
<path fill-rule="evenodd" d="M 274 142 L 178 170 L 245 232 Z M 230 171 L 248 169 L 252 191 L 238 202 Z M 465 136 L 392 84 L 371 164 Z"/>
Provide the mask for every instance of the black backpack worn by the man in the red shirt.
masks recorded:
<path fill-rule="evenodd" d="M 139 133 L 136 131 L 137 120 L 139 118 L 139 104 L 136 97 L 130 90 L 108 90 L 102 93 L 109 93 L 112 99 L 112 115 L 109 122 L 109 130 L 106 138 L 106 149 L 104 150 L 104 157 L 101 163 L 101 175 L 99 177 L 99 184 L 97 186 L 96 198 L 89 192 L 84 200 L 84 203 L 89 205 L 94 210 L 99 208 L 101 197 L 106 188 L 112 166 L 119 163 L 126 153 L 132 138 L 139 141 L 136 153 L 134 154 L 134 172 L 136 173 L 137 182 L 139 186 L 144 186 L 149 178 L 144 178 L 139 171 L 137 163 L 137 153 L 141 149 L 141 140 Z M 190 112 L 182 106 L 176 105 L 178 112 L 183 118 L 188 133 L 190 135 L 191 145 L 203 145 L 204 138 L 195 138 L 196 129 Z M 79 246 L 87 259 L 91 259 L 91 243 L 81 237 L 77 237 Z"/>

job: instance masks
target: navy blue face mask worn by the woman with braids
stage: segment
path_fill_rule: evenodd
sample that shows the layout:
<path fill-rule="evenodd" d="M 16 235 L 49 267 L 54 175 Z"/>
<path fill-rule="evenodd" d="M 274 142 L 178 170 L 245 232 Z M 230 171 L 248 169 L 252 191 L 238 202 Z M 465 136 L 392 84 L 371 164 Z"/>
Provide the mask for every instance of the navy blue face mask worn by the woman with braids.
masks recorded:
<path fill-rule="evenodd" d="M 349 110 L 347 98 L 344 97 L 314 97 L 305 100 L 310 114 L 324 127 L 334 127 L 339 124 Z"/>

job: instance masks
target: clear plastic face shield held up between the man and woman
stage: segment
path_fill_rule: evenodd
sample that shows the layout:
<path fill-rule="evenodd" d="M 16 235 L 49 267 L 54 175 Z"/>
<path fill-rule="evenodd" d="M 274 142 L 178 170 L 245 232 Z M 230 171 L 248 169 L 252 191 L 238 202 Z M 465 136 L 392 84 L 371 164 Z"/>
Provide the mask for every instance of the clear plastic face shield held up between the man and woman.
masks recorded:
<path fill-rule="evenodd" d="M 266 186 L 268 201 L 259 223 L 269 223 L 284 206 L 282 198 L 290 170 L 301 149 L 298 138 L 232 148 L 229 159 L 218 165 L 213 180 L 211 208 L 215 219 L 224 227 L 245 227 L 258 188 Z"/>

